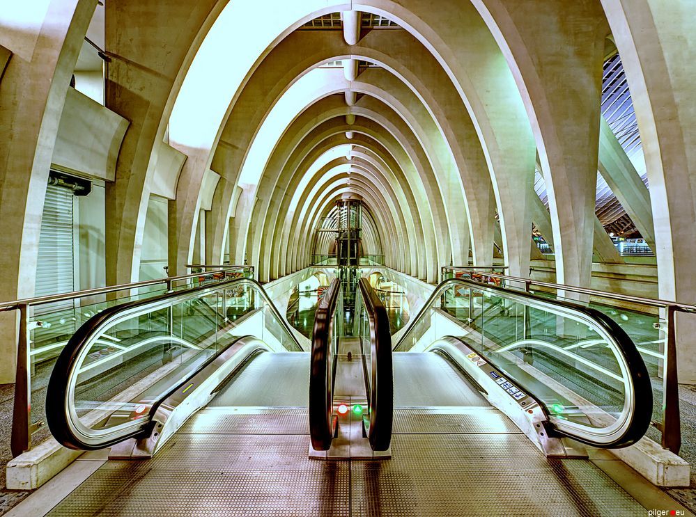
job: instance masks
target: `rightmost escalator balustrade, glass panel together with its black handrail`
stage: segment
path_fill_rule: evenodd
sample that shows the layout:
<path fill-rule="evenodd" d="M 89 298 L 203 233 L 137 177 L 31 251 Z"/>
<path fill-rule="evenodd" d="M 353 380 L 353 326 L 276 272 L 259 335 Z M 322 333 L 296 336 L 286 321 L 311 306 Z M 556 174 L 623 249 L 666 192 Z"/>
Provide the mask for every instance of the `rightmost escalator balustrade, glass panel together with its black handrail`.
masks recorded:
<path fill-rule="evenodd" d="M 626 447 L 651 420 L 652 391 L 635 344 L 597 310 L 460 278 L 431 294 L 394 351 L 454 336 L 539 402 L 554 436 Z M 511 393 L 511 397 L 518 395 Z M 521 395 L 520 395 L 521 396 Z"/>

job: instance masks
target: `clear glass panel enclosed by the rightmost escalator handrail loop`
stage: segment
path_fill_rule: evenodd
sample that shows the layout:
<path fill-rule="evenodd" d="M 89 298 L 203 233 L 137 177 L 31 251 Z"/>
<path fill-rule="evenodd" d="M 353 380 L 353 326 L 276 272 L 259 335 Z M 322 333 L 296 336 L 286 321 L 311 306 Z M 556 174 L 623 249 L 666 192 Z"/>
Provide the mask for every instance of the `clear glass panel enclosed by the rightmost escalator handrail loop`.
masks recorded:
<path fill-rule="evenodd" d="M 637 401 L 618 341 L 626 337 L 618 329 L 610 334 L 569 306 L 454 281 L 415 322 L 399 350 L 426 349 L 453 335 L 451 317 L 461 324 L 456 337 L 539 399 L 559 428 L 590 434 L 596 429 L 608 436 L 628 425 Z"/>

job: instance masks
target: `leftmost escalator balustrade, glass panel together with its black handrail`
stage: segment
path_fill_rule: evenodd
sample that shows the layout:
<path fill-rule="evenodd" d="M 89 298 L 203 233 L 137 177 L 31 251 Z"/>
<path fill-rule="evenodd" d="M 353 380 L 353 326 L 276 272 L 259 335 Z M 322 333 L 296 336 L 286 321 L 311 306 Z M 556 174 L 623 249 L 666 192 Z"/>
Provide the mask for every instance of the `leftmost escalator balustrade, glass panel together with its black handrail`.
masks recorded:
<path fill-rule="evenodd" d="M 56 360 L 47 423 L 59 443 L 78 450 L 159 437 L 172 413 L 185 421 L 176 406 L 195 411 L 226 380 L 218 376 L 265 350 L 302 347 L 251 278 L 114 305 L 78 328 Z"/>

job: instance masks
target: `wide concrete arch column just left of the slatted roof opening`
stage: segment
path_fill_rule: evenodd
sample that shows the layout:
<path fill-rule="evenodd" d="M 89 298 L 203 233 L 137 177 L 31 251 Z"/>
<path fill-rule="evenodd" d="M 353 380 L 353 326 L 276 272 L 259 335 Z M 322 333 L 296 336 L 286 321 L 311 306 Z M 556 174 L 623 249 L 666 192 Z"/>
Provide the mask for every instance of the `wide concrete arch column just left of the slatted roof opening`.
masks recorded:
<path fill-rule="evenodd" d="M 500 45 L 532 121 L 549 196 L 557 281 L 589 287 L 602 65 L 609 33 L 601 5 L 472 3 Z"/>

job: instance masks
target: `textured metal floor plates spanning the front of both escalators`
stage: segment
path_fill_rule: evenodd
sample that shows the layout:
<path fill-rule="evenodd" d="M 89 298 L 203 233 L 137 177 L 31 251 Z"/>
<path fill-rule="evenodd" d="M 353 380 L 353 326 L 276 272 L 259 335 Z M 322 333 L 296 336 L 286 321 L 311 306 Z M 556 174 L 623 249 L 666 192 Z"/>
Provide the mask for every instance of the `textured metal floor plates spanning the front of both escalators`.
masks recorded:
<path fill-rule="evenodd" d="M 310 460 L 306 426 L 304 408 L 205 409 L 155 458 L 108 461 L 49 515 L 647 514 L 589 461 L 546 459 L 494 408 L 399 409 L 382 461 Z"/>

